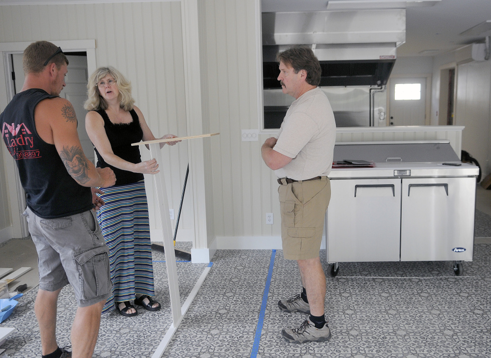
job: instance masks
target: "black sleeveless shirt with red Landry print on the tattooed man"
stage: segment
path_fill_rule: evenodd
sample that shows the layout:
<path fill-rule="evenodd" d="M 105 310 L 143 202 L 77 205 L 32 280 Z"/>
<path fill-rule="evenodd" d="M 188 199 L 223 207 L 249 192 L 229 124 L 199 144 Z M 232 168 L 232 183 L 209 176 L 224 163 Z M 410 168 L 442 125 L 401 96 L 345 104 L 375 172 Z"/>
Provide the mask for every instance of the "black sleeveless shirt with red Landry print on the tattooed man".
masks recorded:
<path fill-rule="evenodd" d="M 2 138 L 19 168 L 27 206 L 43 219 L 79 214 L 93 206 L 90 188 L 68 174 L 55 145 L 37 134 L 34 109 L 42 100 L 55 97 L 39 88 L 27 89 L 0 114 Z"/>

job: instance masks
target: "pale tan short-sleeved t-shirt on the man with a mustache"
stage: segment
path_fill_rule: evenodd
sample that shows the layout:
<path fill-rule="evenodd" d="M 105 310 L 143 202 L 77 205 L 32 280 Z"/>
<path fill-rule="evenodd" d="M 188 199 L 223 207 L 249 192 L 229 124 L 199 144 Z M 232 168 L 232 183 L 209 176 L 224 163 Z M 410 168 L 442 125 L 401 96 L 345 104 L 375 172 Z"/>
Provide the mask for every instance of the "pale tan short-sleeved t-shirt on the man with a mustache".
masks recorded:
<path fill-rule="evenodd" d="M 306 180 L 329 174 L 336 123 L 329 100 L 319 87 L 305 92 L 292 103 L 277 138 L 273 149 L 293 158 L 274 171 L 278 178 Z"/>

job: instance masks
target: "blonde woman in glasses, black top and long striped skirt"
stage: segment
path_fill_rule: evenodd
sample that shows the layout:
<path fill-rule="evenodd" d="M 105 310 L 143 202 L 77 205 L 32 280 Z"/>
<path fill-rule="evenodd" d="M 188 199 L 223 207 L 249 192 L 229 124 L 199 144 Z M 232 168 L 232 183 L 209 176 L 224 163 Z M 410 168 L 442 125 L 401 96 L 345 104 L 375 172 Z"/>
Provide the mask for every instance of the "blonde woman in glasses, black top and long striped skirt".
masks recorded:
<path fill-rule="evenodd" d="M 143 174 L 156 174 L 160 170 L 155 159 L 142 162 L 139 146 L 131 145 L 156 138 L 141 111 L 134 106 L 130 82 L 114 67 L 98 68 L 90 76 L 87 89 L 84 108 L 89 112 L 85 116 L 85 129 L 95 147 L 97 166 L 109 166 L 116 175 L 113 187 L 101 188 L 106 204 L 97 212 L 109 247 L 113 284 L 113 295 L 102 312 L 115 307 L 123 316 L 136 316 L 131 300 L 144 309 L 157 311 L 161 306 L 152 299 L 155 291 Z M 175 137 L 167 134 L 162 138 Z"/>

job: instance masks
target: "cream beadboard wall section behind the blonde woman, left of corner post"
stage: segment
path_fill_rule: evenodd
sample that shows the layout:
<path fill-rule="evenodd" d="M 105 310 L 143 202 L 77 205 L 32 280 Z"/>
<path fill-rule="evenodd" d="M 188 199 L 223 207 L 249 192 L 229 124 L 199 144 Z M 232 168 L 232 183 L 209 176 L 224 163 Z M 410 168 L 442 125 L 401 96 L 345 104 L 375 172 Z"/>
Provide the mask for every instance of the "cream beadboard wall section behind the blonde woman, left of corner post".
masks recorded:
<path fill-rule="evenodd" d="M 179 1 L 0 6 L 0 42 L 95 39 L 96 65 L 112 65 L 131 81 L 136 106 L 153 134 L 183 137 L 187 126 L 180 7 Z M 0 111 L 6 105 L 3 102 Z M 188 148 L 183 143 L 165 146 L 164 163 L 160 164 L 166 173 L 169 207 L 174 208 L 176 218 L 188 165 Z M 141 152 L 143 159 L 149 159 L 148 150 L 142 148 Z M 156 240 L 160 225 L 155 222 L 158 206 L 151 175 L 145 175 L 145 183 L 152 240 Z M 6 200 L 1 198 L 3 206 Z M 188 195 L 179 238 L 191 228 L 190 212 Z M 0 215 L 0 230 L 3 217 Z"/>

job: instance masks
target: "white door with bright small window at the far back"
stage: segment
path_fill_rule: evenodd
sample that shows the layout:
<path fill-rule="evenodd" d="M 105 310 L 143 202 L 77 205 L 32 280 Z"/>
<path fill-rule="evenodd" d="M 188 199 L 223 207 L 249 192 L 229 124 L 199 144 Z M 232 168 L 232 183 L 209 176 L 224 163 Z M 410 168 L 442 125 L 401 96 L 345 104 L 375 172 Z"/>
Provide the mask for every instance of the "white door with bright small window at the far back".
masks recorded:
<path fill-rule="evenodd" d="M 391 79 L 389 125 L 424 126 L 425 102 L 425 78 Z"/>

